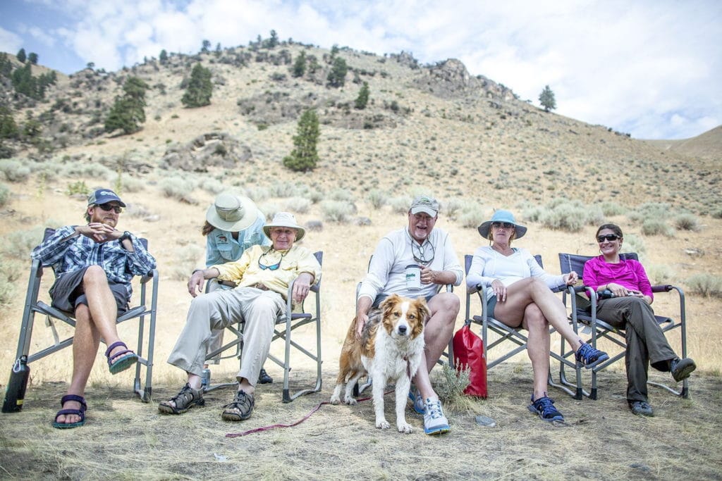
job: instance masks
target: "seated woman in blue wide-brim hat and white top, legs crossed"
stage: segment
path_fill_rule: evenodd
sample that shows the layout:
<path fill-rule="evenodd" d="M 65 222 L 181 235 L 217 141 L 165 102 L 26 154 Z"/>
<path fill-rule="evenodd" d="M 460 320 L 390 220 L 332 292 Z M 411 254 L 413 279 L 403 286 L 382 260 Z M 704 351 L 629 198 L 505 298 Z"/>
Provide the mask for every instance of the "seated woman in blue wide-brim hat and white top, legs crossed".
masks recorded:
<path fill-rule="evenodd" d="M 577 274 L 550 275 L 528 250 L 511 247 L 514 239 L 526 234 L 526 227 L 518 224 L 510 211 L 495 211 L 478 230 L 490 245 L 474 252 L 466 285 L 474 290 L 486 288 L 489 317 L 509 327 L 523 327 L 529 331 L 526 351 L 534 369 L 534 392 L 529 410 L 548 422 L 564 420 L 547 395 L 549 325 L 575 350 L 578 363 L 593 367 L 609 358 L 579 338 L 567 321 L 567 309 L 552 293 L 551 288 L 576 283 Z"/>

